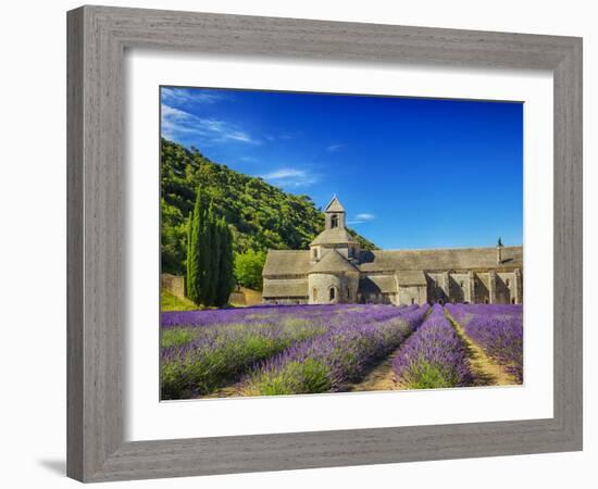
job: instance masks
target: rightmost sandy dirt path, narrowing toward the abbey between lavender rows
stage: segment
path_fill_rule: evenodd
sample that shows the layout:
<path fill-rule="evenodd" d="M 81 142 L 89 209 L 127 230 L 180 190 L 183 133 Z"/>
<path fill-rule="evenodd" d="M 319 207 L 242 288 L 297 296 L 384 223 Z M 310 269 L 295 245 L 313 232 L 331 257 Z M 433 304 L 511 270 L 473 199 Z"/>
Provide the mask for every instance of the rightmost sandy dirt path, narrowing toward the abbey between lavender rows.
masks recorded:
<path fill-rule="evenodd" d="M 509 386 L 519 384 L 516 379 L 504 371 L 502 365 L 496 363 L 486 352 L 471 340 L 463 327 L 447 313 L 447 318 L 465 346 L 473 373 L 474 386 Z"/>

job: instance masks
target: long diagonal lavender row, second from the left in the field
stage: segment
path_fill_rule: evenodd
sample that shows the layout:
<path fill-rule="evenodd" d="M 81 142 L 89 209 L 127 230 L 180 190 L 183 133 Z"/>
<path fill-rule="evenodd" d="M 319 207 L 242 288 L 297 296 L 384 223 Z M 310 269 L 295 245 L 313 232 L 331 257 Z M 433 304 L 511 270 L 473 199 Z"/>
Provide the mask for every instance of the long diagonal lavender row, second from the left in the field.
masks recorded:
<path fill-rule="evenodd" d="M 409 306 L 382 322 L 363 313 L 317 338 L 311 338 L 265 361 L 247 376 L 253 396 L 335 392 L 359 380 L 369 366 L 396 350 L 422 323 L 428 306 Z"/>

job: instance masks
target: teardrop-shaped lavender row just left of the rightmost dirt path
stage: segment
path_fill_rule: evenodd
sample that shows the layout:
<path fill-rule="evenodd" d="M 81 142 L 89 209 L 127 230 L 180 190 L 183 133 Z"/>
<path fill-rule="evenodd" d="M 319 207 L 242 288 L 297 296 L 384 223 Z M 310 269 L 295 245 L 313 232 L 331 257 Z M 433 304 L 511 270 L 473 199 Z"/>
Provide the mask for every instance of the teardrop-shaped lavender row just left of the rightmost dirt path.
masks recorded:
<path fill-rule="evenodd" d="M 438 304 L 399 349 L 393 369 L 404 389 L 463 387 L 472 381 L 465 348 Z"/>

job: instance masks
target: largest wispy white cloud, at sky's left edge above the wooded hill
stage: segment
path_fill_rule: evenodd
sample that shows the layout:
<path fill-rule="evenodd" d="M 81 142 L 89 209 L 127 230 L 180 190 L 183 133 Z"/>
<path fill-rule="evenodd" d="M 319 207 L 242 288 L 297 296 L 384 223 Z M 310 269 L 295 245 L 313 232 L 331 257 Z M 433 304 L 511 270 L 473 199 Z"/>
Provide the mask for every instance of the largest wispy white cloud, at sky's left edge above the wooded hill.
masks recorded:
<path fill-rule="evenodd" d="M 260 140 L 225 121 L 198 117 L 165 103 L 162 104 L 162 136 L 175 140 L 184 136 L 197 136 L 202 139 L 201 142 L 239 141 L 261 145 Z"/>

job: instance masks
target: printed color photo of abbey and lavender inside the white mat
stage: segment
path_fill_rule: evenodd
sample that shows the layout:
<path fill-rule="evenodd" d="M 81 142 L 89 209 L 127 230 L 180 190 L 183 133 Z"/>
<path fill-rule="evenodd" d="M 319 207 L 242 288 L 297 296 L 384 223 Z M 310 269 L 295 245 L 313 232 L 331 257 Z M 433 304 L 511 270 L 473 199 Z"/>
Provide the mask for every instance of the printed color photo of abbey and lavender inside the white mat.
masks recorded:
<path fill-rule="evenodd" d="M 523 102 L 158 110 L 160 400 L 523 385 Z"/>

